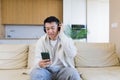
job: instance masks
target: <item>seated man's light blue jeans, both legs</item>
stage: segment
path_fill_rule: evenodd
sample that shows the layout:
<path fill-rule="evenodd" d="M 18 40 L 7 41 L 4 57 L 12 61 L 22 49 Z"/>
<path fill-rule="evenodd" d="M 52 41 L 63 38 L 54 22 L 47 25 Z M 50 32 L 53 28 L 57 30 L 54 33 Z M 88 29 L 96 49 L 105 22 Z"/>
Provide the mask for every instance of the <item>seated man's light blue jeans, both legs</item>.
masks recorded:
<path fill-rule="evenodd" d="M 31 80 L 82 80 L 77 70 L 69 67 L 54 73 L 46 68 L 33 69 L 30 77 Z"/>

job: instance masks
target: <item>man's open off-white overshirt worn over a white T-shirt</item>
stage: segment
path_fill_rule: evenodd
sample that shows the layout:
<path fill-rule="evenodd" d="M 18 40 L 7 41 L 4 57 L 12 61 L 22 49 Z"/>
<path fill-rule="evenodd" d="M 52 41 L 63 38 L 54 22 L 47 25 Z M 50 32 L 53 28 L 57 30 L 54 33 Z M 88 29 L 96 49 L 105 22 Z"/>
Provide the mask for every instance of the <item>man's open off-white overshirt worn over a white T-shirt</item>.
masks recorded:
<path fill-rule="evenodd" d="M 76 55 L 76 47 L 71 38 L 67 37 L 63 32 L 60 32 L 59 35 L 58 46 L 56 47 L 57 58 L 62 62 L 65 67 L 72 67 L 74 68 L 74 57 Z M 50 40 L 45 34 L 42 36 L 36 45 L 36 55 L 35 55 L 35 66 L 36 68 L 40 68 L 38 62 L 42 59 L 41 52 L 49 52 L 50 55 L 53 55 Z M 50 56 L 51 58 L 53 56 Z M 55 59 L 57 59 L 55 58 Z"/>

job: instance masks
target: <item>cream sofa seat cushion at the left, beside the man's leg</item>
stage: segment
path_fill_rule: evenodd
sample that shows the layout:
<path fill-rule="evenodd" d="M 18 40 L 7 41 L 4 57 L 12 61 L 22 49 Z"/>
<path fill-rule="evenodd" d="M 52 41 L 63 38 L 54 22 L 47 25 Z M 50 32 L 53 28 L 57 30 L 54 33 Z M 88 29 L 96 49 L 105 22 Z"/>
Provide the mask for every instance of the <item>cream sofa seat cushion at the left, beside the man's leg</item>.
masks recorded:
<path fill-rule="evenodd" d="M 0 70 L 0 80 L 30 80 L 27 69 Z"/>

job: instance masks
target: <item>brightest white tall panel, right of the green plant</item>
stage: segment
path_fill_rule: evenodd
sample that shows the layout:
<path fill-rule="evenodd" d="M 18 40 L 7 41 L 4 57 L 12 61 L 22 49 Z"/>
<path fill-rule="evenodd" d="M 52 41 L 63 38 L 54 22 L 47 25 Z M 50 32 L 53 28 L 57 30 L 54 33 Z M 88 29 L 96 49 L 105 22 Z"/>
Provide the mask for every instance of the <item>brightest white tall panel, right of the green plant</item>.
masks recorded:
<path fill-rule="evenodd" d="M 88 42 L 109 42 L 109 0 L 87 0 Z"/>

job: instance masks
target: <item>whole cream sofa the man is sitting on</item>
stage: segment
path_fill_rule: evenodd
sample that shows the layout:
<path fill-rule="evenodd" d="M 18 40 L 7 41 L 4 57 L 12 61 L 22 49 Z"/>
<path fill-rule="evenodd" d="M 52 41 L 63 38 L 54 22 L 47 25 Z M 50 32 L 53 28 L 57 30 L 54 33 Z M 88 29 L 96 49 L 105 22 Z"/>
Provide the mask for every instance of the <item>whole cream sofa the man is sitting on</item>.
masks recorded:
<path fill-rule="evenodd" d="M 75 67 L 83 80 L 120 80 L 120 62 L 112 43 L 75 41 Z M 35 44 L 0 44 L 0 80 L 29 80 Z"/>

